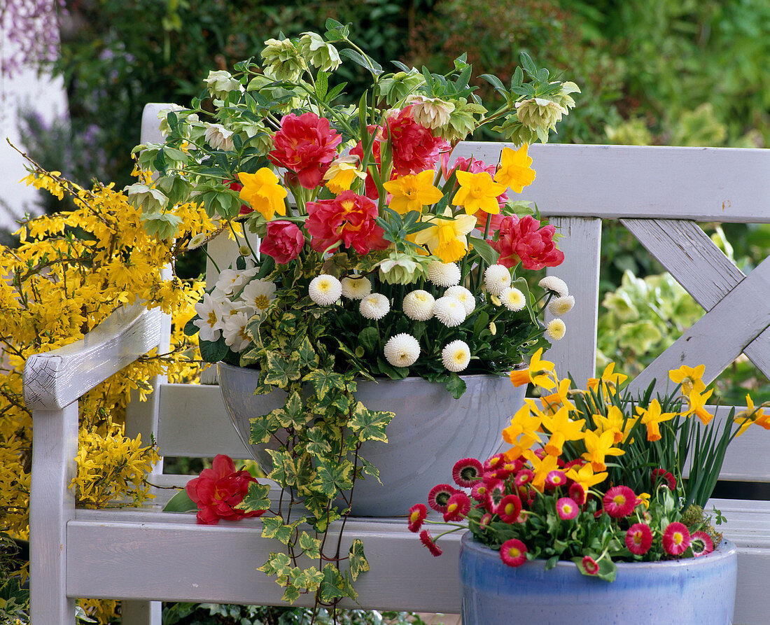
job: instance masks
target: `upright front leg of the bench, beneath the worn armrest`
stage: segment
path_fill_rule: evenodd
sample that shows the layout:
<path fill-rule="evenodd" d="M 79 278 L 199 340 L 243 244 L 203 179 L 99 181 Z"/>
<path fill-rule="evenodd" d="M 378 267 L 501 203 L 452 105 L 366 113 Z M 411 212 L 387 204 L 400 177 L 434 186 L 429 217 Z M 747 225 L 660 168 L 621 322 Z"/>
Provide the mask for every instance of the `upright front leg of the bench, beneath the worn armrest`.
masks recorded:
<path fill-rule="evenodd" d="M 32 413 L 32 489 L 29 502 L 32 625 L 74 625 L 75 600 L 66 594 L 67 522 L 75 513 L 69 484 L 78 450 L 78 403 Z"/>

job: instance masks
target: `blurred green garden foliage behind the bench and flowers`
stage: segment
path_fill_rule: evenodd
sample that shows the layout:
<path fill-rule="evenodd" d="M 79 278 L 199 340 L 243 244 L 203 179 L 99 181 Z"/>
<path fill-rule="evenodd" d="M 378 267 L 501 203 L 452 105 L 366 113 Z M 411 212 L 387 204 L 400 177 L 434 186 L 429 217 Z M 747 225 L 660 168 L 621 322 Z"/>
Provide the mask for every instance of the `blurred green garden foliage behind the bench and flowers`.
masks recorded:
<path fill-rule="evenodd" d="M 22 69 L 42 72 L 59 80 L 66 96 L 57 117 L 22 102 L 14 111 L 18 147 L 82 185 L 98 179 L 122 188 L 132 182 L 130 152 L 146 103 L 185 104 L 200 95 L 212 67 L 232 69 L 258 56 L 279 32 L 323 32 L 327 17 L 351 22 L 355 38 L 383 65 L 398 59 L 448 71 L 467 52 L 474 75 L 505 76 L 527 52 L 538 65 L 564 72 L 582 93 L 557 142 L 770 145 L 767 0 L 0 0 L 3 79 Z M 349 72 L 350 85 L 364 79 L 356 68 L 340 70 Z M 2 99 L 17 105 L 5 91 Z M 62 208 L 68 206 L 46 194 L 5 210 Z M 766 225 L 703 227 L 746 273 L 770 250 Z M 0 244 L 17 243 L 12 230 L 0 232 Z M 602 250 L 598 364 L 615 359 L 626 373 L 638 373 L 701 309 L 624 229 L 604 229 Z M 183 271 L 194 276 L 199 269 L 191 259 Z M 767 380 L 748 361 L 738 360 L 720 384 L 728 403 L 740 405 L 747 389 L 756 403 L 770 399 Z M 3 575 L 13 550 L 0 541 Z M 0 577 L 0 623 L 11 597 L 4 583 Z M 167 623 L 301 622 L 240 609 L 174 610 Z"/>

